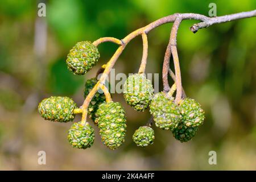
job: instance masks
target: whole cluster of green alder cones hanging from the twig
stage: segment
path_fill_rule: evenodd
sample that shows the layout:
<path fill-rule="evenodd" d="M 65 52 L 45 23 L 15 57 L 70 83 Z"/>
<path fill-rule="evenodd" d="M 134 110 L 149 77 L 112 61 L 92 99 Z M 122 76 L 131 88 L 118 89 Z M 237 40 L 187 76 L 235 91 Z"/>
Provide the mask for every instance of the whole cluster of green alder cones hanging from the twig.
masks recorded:
<path fill-rule="evenodd" d="M 66 62 L 69 71 L 75 75 L 84 75 L 97 63 L 99 57 L 100 53 L 96 46 L 88 41 L 79 42 L 69 52 Z M 97 82 L 97 78 L 85 82 L 85 98 Z M 170 92 L 154 94 L 151 81 L 144 74 L 136 73 L 125 81 L 123 96 L 127 104 L 137 111 L 144 111 L 150 107 L 155 126 L 171 130 L 180 142 L 188 142 L 203 124 L 204 110 L 191 98 L 183 98 L 179 104 L 175 104 L 172 97 L 175 89 L 174 84 Z M 44 119 L 57 122 L 73 121 L 75 114 L 81 113 L 82 109 L 68 97 L 45 98 L 38 106 L 38 111 Z M 122 145 L 126 135 L 126 117 L 125 110 L 119 102 L 106 100 L 105 92 L 100 92 L 99 89 L 86 108 L 86 114 L 100 129 L 101 140 L 106 147 L 115 150 Z M 75 148 L 89 148 L 94 142 L 94 137 L 94 129 L 86 122 L 86 118 L 73 123 L 68 131 L 68 141 Z M 135 144 L 141 147 L 154 143 L 154 138 L 151 125 L 141 126 L 133 134 Z"/>

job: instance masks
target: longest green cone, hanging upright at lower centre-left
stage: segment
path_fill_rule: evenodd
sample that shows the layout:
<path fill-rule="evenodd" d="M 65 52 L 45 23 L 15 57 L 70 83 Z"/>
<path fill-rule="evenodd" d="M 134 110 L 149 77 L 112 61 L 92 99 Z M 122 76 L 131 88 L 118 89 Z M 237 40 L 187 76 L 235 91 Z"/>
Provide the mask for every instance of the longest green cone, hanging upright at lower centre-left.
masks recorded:
<path fill-rule="evenodd" d="M 119 102 L 101 104 L 96 113 L 96 122 L 106 147 L 115 150 L 125 142 L 125 110 Z"/>

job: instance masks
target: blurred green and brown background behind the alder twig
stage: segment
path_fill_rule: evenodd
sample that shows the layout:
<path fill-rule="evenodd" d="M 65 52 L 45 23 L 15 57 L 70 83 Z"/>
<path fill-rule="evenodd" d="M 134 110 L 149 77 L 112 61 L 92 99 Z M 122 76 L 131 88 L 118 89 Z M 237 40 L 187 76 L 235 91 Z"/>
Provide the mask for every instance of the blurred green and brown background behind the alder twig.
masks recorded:
<path fill-rule="evenodd" d="M 174 13 L 208 15 L 210 2 L 216 3 L 220 16 L 253 10 L 256 1 L 55 0 L 46 2 L 47 14 L 42 18 L 37 15 L 39 2 L 43 1 L 0 3 L 1 170 L 256 169 L 255 18 L 216 24 L 196 34 L 189 31 L 195 20 L 181 23 L 177 48 L 183 86 L 187 96 L 199 101 L 206 112 L 205 124 L 188 143 L 154 126 L 154 145 L 136 147 L 131 136 L 150 114 L 131 109 L 122 94 L 114 94 L 113 100 L 125 107 L 128 127 L 126 142 L 117 151 L 101 143 L 96 126 L 93 147 L 73 149 L 67 142 L 71 123 L 44 121 L 37 112 L 39 101 L 51 95 L 69 96 L 81 105 L 85 80 L 94 77 L 117 48 L 112 43 L 101 44 L 96 67 L 85 77 L 75 76 L 68 71 L 65 58 L 76 42 L 104 36 L 122 39 Z M 170 28 L 171 24 L 164 24 L 148 34 L 147 73 L 161 74 Z M 141 56 L 139 36 L 119 57 L 115 73 L 137 72 Z M 162 81 L 159 85 L 161 90 Z M 46 165 L 38 164 L 42 150 Z M 212 150 L 217 152 L 217 165 L 208 163 Z"/>

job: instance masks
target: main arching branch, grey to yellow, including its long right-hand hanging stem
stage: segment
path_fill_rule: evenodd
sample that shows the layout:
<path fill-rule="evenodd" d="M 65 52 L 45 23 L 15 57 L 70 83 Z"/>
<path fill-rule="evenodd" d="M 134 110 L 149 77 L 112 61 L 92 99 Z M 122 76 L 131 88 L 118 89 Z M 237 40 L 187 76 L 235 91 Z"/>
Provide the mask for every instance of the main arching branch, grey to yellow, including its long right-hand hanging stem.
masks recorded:
<path fill-rule="evenodd" d="M 238 14 L 209 18 L 207 16 L 200 15 L 200 14 L 193 14 L 193 13 L 179 14 L 179 13 L 177 13 L 177 14 L 165 16 L 163 18 L 155 20 L 155 22 L 152 22 L 145 27 L 139 28 L 138 30 L 131 32 L 129 35 L 127 35 L 125 38 L 123 38 L 121 40 L 115 39 L 115 38 L 100 38 L 100 39 L 94 41 L 93 42 L 94 46 L 98 46 L 98 44 L 100 44 L 102 42 L 113 42 L 113 43 L 119 44 L 120 46 L 118 47 L 117 51 L 115 51 L 112 58 L 108 61 L 108 64 L 106 64 L 106 68 L 105 68 L 104 72 L 102 73 L 97 84 L 94 85 L 93 89 L 90 91 L 88 96 L 85 98 L 84 103 L 81 106 L 82 122 L 86 121 L 88 105 L 89 105 L 90 101 L 92 100 L 94 94 L 99 89 L 100 84 L 101 83 L 104 84 L 106 78 L 108 77 L 111 69 L 113 68 L 113 66 L 115 64 L 115 61 L 117 61 L 118 57 L 121 55 L 121 53 L 122 53 L 123 49 L 125 49 L 126 45 L 132 39 L 134 39 L 136 36 L 142 35 L 142 34 L 147 34 L 151 30 L 153 30 L 154 28 L 156 28 L 158 26 L 161 26 L 162 24 L 170 23 L 170 22 L 174 22 L 174 21 L 176 22 L 176 23 L 174 23 L 174 27 L 172 28 L 172 33 L 171 33 L 172 34 L 171 36 L 174 36 L 172 38 L 172 43 L 171 43 L 171 52 L 174 57 L 174 63 L 175 63 L 175 75 L 176 75 L 176 85 L 177 85 L 177 94 L 176 94 L 175 101 L 177 103 L 177 101 L 179 101 L 181 99 L 181 91 L 182 91 L 180 68 L 179 68 L 179 58 L 177 56 L 177 48 L 176 48 L 177 29 L 179 28 L 179 24 L 180 24 L 181 20 L 184 20 L 184 19 L 201 20 L 201 23 L 194 24 L 194 26 L 192 26 L 193 28 L 191 30 L 193 32 L 196 32 L 200 28 L 208 27 L 212 24 L 229 22 L 231 20 L 236 20 L 236 19 L 241 19 L 241 18 L 249 18 L 249 17 L 255 16 L 255 14 L 256 14 L 256 10 L 253 10 L 253 11 L 247 11 L 247 12 L 238 13 Z M 170 61 L 170 59 L 169 59 L 169 61 Z"/>

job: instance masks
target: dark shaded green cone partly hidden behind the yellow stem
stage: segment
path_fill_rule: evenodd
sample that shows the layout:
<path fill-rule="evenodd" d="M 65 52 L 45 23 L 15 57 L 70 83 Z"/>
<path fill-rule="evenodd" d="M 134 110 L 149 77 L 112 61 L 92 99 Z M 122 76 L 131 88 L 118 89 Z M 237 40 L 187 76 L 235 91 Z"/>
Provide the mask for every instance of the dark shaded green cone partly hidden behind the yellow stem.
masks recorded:
<path fill-rule="evenodd" d="M 97 82 L 98 82 L 97 78 L 91 78 L 85 82 L 84 98 L 88 96 L 90 90 L 93 89 L 93 87 L 97 84 Z M 108 89 L 110 91 L 110 84 L 108 84 Z M 90 104 L 88 106 L 88 114 L 89 114 L 89 117 L 92 118 L 94 123 L 96 123 L 96 111 L 98 110 L 98 106 L 100 106 L 105 101 L 106 101 L 106 97 L 104 92 L 101 89 L 100 89 L 100 92 L 96 92 L 96 94 L 92 98 L 92 101 L 90 101 Z"/>

